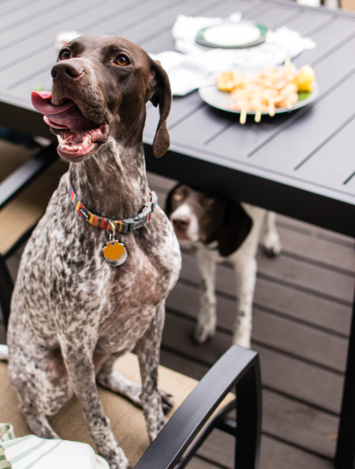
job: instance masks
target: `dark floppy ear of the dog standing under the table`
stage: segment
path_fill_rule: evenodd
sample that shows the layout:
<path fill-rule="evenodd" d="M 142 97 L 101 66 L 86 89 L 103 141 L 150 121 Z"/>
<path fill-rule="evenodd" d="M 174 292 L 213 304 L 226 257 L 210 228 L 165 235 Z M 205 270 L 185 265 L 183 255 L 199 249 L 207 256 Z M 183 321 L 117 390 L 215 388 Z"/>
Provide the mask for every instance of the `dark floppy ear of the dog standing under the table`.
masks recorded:
<path fill-rule="evenodd" d="M 217 235 L 218 250 L 221 256 L 232 254 L 252 228 L 253 222 L 238 202 L 231 201 L 227 207 L 226 220 Z"/>

